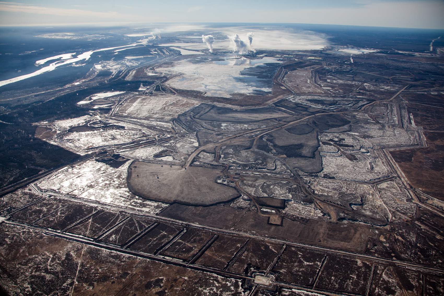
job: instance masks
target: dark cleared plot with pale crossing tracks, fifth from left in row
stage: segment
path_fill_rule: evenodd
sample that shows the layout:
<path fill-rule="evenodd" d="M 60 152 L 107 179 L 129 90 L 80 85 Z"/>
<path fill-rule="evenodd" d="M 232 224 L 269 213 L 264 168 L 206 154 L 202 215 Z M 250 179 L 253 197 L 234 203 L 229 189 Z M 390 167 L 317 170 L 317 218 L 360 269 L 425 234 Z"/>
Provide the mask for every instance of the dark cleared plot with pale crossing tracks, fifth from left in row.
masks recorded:
<path fill-rule="evenodd" d="M 105 243 L 123 246 L 133 236 L 135 236 L 139 232 L 142 232 L 151 224 L 153 224 L 153 221 L 139 217 L 130 217 L 128 220 L 123 222 L 122 225 L 118 226 L 110 233 L 107 233 L 100 240 Z"/>

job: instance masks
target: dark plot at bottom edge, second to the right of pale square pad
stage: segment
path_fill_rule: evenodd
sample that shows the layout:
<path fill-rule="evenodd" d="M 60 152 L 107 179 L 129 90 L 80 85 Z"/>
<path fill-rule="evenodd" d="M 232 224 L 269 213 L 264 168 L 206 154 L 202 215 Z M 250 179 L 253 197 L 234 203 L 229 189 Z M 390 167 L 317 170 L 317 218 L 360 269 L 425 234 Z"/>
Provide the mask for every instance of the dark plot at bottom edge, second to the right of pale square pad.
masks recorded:
<path fill-rule="evenodd" d="M 372 265 L 351 258 L 329 256 L 319 275 L 316 288 L 365 295 Z"/>

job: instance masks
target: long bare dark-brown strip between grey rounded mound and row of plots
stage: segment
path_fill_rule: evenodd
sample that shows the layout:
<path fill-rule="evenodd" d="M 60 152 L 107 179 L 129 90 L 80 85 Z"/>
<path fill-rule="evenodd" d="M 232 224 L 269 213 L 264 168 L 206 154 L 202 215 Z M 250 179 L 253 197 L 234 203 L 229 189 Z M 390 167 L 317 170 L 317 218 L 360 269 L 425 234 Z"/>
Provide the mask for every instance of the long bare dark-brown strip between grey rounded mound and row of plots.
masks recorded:
<path fill-rule="evenodd" d="M 365 249 L 366 242 L 362 236 L 377 236 L 369 231 L 371 226 L 364 224 L 351 224 L 344 228 L 341 227 L 342 224 L 326 221 L 284 219 L 282 226 L 274 226 L 267 224 L 268 217 L 260 216 L 255 211 L 230 206 L 192 207 L 172 204 L 160 213 L 160 216 L 222 229 L 254 231 L 258 235 L 354 252 L 362 252 Z"/>

